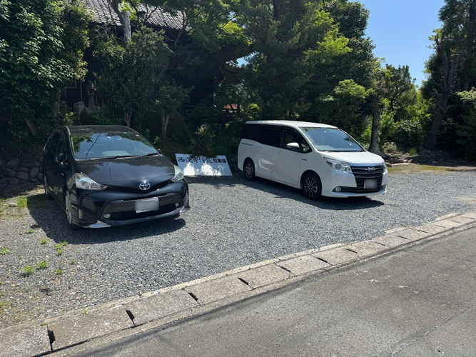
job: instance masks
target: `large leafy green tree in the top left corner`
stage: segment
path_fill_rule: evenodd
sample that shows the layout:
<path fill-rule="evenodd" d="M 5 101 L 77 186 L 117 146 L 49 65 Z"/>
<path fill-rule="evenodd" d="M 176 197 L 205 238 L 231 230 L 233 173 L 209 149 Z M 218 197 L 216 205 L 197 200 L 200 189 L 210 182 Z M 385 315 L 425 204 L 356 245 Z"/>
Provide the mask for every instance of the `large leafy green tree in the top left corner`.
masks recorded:
<path fill-rule="evenodd" d="M 64 86 L 83 78 L 88 20 L 79 0 L 0 1 L 0 106 L 12 132 L 26 124 L 36 136 Z"/>

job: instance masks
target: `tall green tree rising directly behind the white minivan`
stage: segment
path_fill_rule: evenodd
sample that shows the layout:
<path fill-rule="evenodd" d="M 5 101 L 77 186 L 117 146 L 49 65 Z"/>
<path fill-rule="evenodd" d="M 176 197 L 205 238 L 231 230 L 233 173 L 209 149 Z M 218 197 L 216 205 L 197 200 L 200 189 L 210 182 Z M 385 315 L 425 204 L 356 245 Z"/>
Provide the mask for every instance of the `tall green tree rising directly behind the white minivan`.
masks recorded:
<path fill-rule="evenodd" d="M 320 1 L 236 0 L 232 9 L 251 41 L 243 76 L 263 119 L 300 117 L 312 104 L 307 84 L 350 51 L 348 39 Z"/>

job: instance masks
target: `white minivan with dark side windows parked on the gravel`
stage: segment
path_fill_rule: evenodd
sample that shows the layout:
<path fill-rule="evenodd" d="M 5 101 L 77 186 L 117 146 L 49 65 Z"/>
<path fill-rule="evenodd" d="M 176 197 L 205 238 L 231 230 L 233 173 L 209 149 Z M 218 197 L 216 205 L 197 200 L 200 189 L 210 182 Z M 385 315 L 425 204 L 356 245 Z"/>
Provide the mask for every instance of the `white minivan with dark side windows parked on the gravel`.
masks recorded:
<path fill-rule="evenodd" d="M 247 121 L 238 146 L 238 167 L 300 188 L 304 196 L 355 197 L 386 193 L 385 161 L 344 131 L 305 121 Z"/>

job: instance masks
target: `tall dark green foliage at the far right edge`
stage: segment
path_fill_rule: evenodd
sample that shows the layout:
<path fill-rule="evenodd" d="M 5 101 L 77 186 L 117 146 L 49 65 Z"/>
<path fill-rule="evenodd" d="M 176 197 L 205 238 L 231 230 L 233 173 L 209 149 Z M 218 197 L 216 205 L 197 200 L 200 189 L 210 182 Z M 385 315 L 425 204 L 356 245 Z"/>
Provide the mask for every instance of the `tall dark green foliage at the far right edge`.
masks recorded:
<path fill-rule="evenodd" d="M 476 86 L 476 1 L 445 0 L 440 10 L 442 29 L 436 33 L 446 36 L 445 53 L 448 68 L 455 68 L 455 77 L 448 91 L 447 109 L 440 126 L 436 145 L 453 151 L 466 159 L 476 159 L 474 124 L 474 101 L 468 99 Z M 438 110 L 437 101 L 442 94 L 445 64 L 441 56 L 430 56 L 426 63 L 428 79 L 422 86 L 422 96 L 429 103 L 429 113 L 434 118 Z M 455 95 L 458 94 L 458 95 Z M 428 122 L 423 124 L 428 128 Z"/>

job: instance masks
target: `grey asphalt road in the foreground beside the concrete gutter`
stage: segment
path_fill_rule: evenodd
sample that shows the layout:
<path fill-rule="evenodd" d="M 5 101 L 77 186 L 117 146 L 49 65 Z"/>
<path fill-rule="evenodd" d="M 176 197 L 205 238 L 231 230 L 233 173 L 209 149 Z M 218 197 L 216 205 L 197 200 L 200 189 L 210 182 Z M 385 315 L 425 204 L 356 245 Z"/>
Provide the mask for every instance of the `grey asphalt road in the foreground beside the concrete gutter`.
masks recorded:
<path fill-rule="evenodd" d="M 474 356 L 476 228 L 71 356 Z"/>

